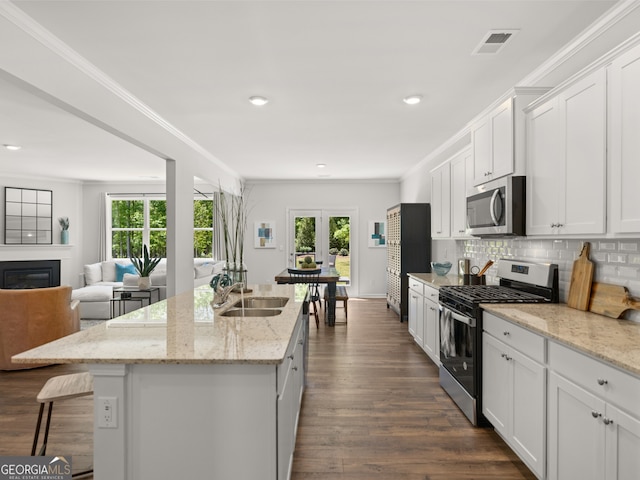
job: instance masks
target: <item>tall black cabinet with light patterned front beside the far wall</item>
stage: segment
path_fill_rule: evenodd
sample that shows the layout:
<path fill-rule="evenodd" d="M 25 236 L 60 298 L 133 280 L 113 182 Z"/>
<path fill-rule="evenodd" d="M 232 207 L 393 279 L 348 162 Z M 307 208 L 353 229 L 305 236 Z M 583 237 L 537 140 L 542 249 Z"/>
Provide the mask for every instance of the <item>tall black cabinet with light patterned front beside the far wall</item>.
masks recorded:
<path fill-rule="evenodd" d="M 387 308 L 408 317 L 407 273 L 431 272 L 431 206 L 401 203 L 387 209 Z"/>

